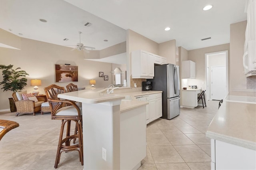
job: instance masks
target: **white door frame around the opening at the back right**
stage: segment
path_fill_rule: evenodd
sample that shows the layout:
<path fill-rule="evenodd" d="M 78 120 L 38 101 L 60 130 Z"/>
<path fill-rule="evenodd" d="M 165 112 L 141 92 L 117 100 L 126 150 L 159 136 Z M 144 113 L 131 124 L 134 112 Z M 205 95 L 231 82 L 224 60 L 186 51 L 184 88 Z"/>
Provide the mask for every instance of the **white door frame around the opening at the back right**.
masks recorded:
<path fill-rule="evenodd" d="M 224 51 L 217 51 L 217 52 L 213 52 L 213 53 L 205 53 L 204 54 L 204 82 L 206 82 L 206 83 L 204 83 L 204 85 L 205 85 L 205 89 L 207 89 L 207 67 L 208 67 L 208 57 L 210 56 L 210 55 L 216 55 L 216 54 L 220 54 L 220 53 L 226 53 L 226 92 L 228 93 L 229 92 L 229 74 L 228 74 L 228 70 L 229 70 L 229 68 L 228 68 L 228 50 L 224 50 Z M 208 96 L 208 97 L 206 97 L 206 99 L 210 99 L 210 96 L 209 96 L 210 94 L 209 94 L 209 91 L 207 91 L 206 90 L 206 96 Z M 206 104 L 207 104 L 207 101 L 208 100 L 206 100 Z"/>

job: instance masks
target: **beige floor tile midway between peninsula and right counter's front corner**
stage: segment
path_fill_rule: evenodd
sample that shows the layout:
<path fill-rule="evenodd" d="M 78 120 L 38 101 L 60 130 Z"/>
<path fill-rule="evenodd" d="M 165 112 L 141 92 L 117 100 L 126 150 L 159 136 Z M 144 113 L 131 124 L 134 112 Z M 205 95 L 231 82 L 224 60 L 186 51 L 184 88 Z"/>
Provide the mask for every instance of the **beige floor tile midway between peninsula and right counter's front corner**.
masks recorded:
<path fill-rule="evenodd" d="M 194 144 L 185 134 L 166 134 L 166 138 L 172 145 L 191 145 Z"/>

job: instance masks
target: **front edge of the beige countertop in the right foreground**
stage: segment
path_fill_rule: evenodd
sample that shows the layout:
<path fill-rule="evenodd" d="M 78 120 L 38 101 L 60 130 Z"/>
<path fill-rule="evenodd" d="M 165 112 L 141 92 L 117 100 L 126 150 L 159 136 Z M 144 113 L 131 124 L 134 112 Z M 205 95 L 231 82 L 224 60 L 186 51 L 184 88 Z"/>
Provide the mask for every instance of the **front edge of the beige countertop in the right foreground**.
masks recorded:
<path fill-rule="evenodd" d="M 208 138 L 212 138 L 215 140 L 220 140 L 222 142 L 226 142 L 229 144 L 234 144 L 236 146 L 241 146 L 244 148 L 248 148 L 248 149 L 252 149 L 252 150 L 256 150 L 256 143 L 255 142 L 250 142 L 248 140 L 242 140 L 240 138 L 234 138 L 231 136 L 226 136 L 224 134 L 219 134 L 219 133 L 215 133 L 212 131 L 206 131 L 206 136 Z"/>

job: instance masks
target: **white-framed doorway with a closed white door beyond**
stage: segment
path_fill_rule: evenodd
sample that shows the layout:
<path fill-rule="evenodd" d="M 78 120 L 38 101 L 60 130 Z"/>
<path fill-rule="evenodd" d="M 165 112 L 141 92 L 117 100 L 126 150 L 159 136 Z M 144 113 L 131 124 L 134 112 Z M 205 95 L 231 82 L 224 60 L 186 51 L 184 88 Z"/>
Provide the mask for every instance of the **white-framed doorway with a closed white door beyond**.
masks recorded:
<path fill-rule="evenodd" d="M 205 82 L 207 101 L 224 99 L 228 93 L 228 50 L 205 53 Z"/>

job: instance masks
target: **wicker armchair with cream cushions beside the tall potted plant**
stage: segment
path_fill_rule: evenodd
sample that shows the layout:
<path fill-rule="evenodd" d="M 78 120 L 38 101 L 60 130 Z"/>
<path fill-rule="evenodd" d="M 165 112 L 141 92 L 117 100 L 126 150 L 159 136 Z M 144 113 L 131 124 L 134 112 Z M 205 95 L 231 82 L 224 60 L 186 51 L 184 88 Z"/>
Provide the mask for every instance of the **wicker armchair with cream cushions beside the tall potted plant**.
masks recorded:
<path fill-rule="evenodd" d="M 41 110 L 41 104 L 46 101 L 44 97 L 36 97 L 38 102 L 32 100 L 18 100 L 16 93 L 12 93 L 12 98 L 14 99 L 15 106 L 17 108 L 17 113 L 15 116 L 18 116 L 20 113 L 32 113 L 35 115 L 36 112 Z"/>

